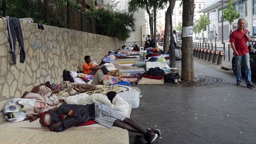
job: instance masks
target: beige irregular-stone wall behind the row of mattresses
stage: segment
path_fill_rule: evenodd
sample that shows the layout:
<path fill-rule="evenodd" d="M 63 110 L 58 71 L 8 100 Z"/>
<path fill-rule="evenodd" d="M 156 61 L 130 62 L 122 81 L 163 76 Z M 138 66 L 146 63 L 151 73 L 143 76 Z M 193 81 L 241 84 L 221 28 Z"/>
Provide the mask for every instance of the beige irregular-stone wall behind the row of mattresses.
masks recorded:
<path fill-rule="evenodd" d="M 16 42 L 17 65 L 12 65 L 6 18 L 0 18 L 0 101 L 20 98 L 25 91 L 46 81 L 62 82 L 62 71 L 82 70 L 84 56 L 100 62 L 109 50 L 123 41 L 107 36 L 66 28 L 21 22 L 25 47 L 25 63 L 20 63 Z"/>

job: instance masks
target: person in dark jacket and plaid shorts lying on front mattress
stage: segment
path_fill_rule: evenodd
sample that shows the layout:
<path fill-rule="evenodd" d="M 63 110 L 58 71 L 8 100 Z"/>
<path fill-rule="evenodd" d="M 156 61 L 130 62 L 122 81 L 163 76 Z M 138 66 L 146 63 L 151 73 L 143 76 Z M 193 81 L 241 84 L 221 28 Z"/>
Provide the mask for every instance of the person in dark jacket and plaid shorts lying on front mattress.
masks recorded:
<path fill-rule="evenodd" d="M 113 95 L 108 95 L 108 97 Z M 110 97 L 110 99 L 111 99 Z M 40 124 L 49 127 L 52 132 L 62 132 L 69 127 L 94 120 L 105 127 L 121 127 L 129 132 L 141 133 L 149 143 L 152 143 L 161 135 L 158 129 L 143 129 L 132 119 L 121 116 L 108 105 L 99 104 L 62 104 L 57 110 L 45 111 L 40 117 Z"/>

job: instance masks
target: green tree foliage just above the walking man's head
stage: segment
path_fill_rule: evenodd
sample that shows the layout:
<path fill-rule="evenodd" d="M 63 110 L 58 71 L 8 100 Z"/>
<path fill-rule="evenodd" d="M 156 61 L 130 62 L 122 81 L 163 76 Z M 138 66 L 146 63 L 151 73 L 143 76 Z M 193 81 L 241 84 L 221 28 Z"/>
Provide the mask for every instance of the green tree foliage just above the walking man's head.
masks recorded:
<path fill-rule="evenodd" d="M 228 8 L 223 9 L 223 18 L 225 18 L 229 24 L 233 23 L 233 20 L 239 18 L 238 12 L 233 8 L 233 3 L 231 0 L 228 0 Z"/>

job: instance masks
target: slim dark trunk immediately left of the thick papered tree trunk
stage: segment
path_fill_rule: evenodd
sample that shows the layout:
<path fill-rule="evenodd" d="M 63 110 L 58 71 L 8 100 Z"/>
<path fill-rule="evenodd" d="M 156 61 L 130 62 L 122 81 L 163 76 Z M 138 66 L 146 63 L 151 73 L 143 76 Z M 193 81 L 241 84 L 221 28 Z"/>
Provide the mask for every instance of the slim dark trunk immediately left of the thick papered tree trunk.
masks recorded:
<path fill-rule="evenodd" d="M 169 11 L 169 23 L 170 23 L 170 33 L 169 35 L 171 35 L 171 43 L 169 44 L 169 66 L 171 68 L 175 68 L 176 67 L 176 63 L 175 63 L 175 46 L 174 46 L 174 37 L 172 34 L 172 10 L 174 9 L 174 5 L 175 5 L 175 1 L 173 0 L 169 0 L 169 4 L 172 5 L 172 9 L 170 9 Z"/>

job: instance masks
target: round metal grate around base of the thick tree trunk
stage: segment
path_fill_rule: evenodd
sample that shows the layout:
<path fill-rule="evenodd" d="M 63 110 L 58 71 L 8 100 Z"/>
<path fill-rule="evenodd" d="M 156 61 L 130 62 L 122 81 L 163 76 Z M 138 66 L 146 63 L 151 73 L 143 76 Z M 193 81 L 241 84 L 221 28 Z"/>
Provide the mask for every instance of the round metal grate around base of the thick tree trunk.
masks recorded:
<path fill-rule="evenodd" d="M 206 87 L 210 85 L 222 84 L 223 79 L 217 78 L 215 76 L 203 76 L 198 75 L 194 81 L 184 82 L 181 81 L 178 84 L 165 83 L 174 87 Z"/>

